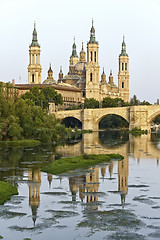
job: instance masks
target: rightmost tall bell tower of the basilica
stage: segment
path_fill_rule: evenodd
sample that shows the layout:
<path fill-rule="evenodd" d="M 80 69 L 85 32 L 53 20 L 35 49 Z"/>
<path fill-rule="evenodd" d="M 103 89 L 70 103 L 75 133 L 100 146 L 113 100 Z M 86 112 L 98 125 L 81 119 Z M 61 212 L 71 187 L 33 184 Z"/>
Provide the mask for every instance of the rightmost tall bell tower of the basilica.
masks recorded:
<path fill-rule="evenodd" d="M 129 57 L 126 53 L 124 36 L 121 54 L 119 55 L 118 91 L 120 93 L 120 97 L 125 102 L 129 102 Z"/>

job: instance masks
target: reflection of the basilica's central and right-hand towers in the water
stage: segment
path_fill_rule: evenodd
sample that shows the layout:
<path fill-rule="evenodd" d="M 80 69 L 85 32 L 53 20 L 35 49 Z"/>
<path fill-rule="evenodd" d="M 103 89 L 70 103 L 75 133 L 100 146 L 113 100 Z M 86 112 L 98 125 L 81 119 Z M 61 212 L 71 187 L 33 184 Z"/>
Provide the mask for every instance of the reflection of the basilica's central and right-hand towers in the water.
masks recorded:
<path fill-rule="evenodd" d="M 89 168 L 89 173 L 83 176 L 69 177 L 69 186 L 72 193 L 72 201 L 79 197 L 82 202 L 94 203 L 98 201 L 100 177 L 104 180 L 106 168 L 109 170 L 110 178 L 113 174 L 114 162 L 105 167 Z M 101 172 L 101 176 L 99 176 Z M 128 193 L 128 158 L 118 162 L 118 191 L 121 195 L 121 204 L 125 203 L 125 197 Z M 97 207 L 96 207 L 97 208 Z"/>

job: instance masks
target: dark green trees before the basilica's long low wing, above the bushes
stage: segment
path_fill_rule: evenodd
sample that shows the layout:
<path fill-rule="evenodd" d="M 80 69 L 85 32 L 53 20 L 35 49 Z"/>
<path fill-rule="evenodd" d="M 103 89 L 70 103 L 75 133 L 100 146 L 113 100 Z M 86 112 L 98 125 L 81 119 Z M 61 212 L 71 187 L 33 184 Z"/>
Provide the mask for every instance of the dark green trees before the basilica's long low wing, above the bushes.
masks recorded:
<path fill-rule="evenodd" d="M 30 91 L 21 96 L 23 99 L 29 99 L 37 106 L 41 106 L 46 109 L 49 107 L 49 102 L 54 102 L 55 105 L 62 104 L 62 95 L 58 94 L 52 87 L 44 87 L 39 90 L 37 86 L 34 86 Z"/>

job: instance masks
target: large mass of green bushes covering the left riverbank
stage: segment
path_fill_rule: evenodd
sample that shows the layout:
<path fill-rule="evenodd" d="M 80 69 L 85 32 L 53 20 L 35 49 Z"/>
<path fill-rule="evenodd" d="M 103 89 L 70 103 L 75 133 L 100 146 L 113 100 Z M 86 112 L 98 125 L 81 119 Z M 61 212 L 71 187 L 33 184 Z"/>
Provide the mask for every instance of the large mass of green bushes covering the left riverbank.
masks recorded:
<path fill-rule="evenodd" d="M 38 95 L 38 88 L 30 94 Z M 65 127 L 48 115 L 46 110 L 36 106 L 30 99 L 5 101 L 0 95 L 0 141 L 35 139 L 41 142 L 57 142 L 66 133 Z"/>

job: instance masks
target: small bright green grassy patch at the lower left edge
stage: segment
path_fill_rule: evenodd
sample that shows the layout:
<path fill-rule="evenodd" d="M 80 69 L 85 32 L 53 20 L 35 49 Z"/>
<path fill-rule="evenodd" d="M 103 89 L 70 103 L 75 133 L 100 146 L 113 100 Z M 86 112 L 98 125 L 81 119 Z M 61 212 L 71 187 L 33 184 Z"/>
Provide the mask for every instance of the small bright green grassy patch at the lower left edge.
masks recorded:
<path fill-rule="evenodd" d="M 0 181 L 0 205 L 4 204 L 7 200 L 10 200 L 12 195 L 17 195 L 17 188 L 9 183 Z"/>

